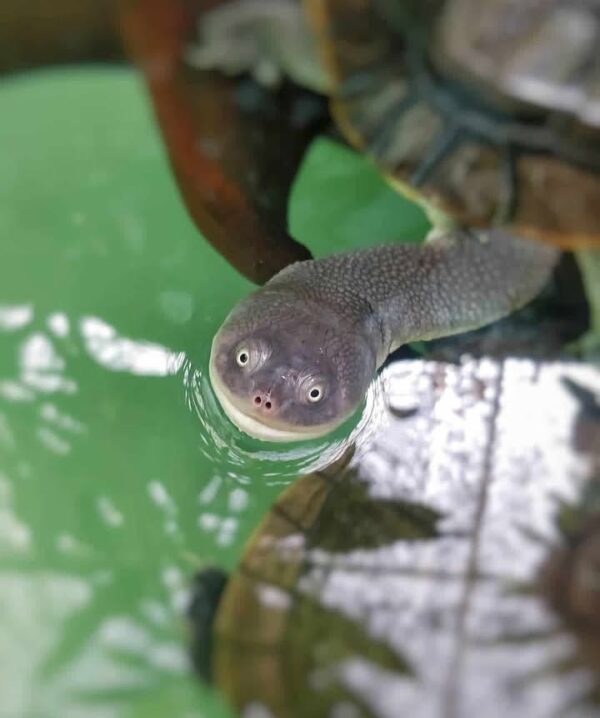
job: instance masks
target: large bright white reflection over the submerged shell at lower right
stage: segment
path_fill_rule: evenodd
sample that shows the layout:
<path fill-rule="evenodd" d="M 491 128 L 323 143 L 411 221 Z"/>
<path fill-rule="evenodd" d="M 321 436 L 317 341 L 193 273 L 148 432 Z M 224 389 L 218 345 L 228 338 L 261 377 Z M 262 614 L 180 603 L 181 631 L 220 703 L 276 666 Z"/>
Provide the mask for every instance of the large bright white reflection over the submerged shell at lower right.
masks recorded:
<path fill-rule="evenodd" d="M 597 715 L 568 709 L 593 677 L 567 665 L 572 637 L 533 590 L 559 542 L 560 502 L 576 505 L 598 467 L 599 425 L 565 378 L 600 395 L 598 369 L 577 363 L 386 369 L 390 405 L 409 413 L 375 437 L 357 470 L 370 497 L 438 509 L 439 534 L 345 552 L 308 547 L 294 585 L 418 676 L 406 682 L 363 657 L 342 665 L 336 677 L 374 715 L 396 718 L 399 706 L 419 718 Z"/>

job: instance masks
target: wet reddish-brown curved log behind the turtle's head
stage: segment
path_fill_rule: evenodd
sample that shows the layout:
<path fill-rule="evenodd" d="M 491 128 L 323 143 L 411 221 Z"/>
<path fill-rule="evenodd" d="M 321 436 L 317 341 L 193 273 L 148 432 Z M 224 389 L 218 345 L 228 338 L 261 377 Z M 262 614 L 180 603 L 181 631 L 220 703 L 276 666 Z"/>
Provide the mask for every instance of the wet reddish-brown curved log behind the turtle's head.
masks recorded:
<path fill-rule="evenodd" d="M 287 232 L 287 198 L 322 105 L 291 86 L 270 94 L 246 78 L 187 67 L 202 8 L 190 0 L 122 0 L 122 34 L 193 221 L 239 272 L 262 283 L 310 256 Z"/>

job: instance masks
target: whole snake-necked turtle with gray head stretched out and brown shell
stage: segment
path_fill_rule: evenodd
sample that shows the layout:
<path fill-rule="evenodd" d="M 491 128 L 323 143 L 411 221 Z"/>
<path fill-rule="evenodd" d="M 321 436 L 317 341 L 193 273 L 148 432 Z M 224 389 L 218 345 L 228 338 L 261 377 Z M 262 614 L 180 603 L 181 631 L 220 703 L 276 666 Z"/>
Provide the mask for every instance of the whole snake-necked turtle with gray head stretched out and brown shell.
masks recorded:
<path fill-rule="evenodd" d="M 436 227 L 421 247 L 296 263 L 234 309 L 211 381 L 253 436 L 330 431 L 390 351 L 512 312 L 544 285 L 553 245 L 600 242 L 595 3 L 237 0 L 201 18 L 191 59 L 320 86 L 346 139 Z M 597 305 L 598 251 L 585 256 Z"/>

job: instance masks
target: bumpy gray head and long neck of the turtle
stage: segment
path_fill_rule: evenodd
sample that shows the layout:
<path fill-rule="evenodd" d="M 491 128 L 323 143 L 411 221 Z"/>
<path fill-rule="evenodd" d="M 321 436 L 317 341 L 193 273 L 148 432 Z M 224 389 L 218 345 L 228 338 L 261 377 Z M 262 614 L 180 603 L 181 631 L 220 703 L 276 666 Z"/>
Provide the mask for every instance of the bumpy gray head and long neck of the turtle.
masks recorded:
<path fill-rule="evenodd" d="M 323 435 L 355 411 L 391 351 L 518 309 L 558 255 L 490 230 L 298 262 L 227 317 L 212 347 L 213 388 L 234 423 L 257 438 Z M 316 402 L 308 395 L 315 386 Z"/>

